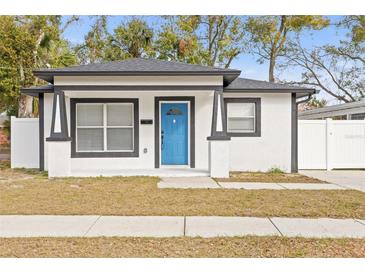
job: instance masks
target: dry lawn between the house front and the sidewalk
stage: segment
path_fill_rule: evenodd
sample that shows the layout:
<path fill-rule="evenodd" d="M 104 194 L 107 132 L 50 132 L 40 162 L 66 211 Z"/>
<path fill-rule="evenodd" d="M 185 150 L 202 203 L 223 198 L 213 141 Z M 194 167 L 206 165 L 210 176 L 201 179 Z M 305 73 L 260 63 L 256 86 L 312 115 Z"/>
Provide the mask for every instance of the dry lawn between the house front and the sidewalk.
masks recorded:
<path fill-rule="evenodd" d="M 3 215 L 365 218 L 365 193 L 354 190 L 158 189 L 156 177 L 49 180 L 36 171 L 0 172 Z"/>

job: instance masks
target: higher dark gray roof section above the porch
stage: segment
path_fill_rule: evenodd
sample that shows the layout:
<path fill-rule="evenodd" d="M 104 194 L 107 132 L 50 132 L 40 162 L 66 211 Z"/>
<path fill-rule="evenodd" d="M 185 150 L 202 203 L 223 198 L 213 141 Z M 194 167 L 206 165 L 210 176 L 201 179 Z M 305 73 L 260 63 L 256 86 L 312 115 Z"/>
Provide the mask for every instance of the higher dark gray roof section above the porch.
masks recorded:
<path fill-rule="evenodd" d="M 240 73 L 236 69 L 143 58 L 34 70 L 34 75 L 50 83 L 53 83 L 55 75 L 222 75 L 228 85 Z"/>

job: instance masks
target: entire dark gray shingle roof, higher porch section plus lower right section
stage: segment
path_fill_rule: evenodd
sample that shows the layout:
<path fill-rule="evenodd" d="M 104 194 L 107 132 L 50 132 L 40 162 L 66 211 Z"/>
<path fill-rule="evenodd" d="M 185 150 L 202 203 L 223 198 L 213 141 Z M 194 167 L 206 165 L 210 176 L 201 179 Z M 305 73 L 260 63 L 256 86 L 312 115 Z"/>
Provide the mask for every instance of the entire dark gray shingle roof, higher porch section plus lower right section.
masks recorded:
<path fill-rule="evenodd" d="M 223 76 L 224 91 L 226 92 L 295 92 L 298 97 L 315 92 L 314 89 L 287 84 L 237 78 L 240 73 L 241 71 L 236 69 L 143 58 L 34 71 L 34 75 L 49 83 L 53 83 L 55 75 L 221 75 Z"/>

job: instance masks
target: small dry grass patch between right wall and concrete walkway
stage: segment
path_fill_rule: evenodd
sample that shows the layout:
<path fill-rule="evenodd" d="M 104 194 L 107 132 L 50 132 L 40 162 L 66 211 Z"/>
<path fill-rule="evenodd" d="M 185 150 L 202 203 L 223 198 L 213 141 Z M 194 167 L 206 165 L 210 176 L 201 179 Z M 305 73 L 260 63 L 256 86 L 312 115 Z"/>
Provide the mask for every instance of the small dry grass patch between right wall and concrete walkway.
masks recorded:
<path fill-rule="evenodd" d="M 260 183 L 326 183 L 298 173 L 273 172 L 230 172 L 229 178 L 216 179 L 218 182 L 260 182 Z"/>

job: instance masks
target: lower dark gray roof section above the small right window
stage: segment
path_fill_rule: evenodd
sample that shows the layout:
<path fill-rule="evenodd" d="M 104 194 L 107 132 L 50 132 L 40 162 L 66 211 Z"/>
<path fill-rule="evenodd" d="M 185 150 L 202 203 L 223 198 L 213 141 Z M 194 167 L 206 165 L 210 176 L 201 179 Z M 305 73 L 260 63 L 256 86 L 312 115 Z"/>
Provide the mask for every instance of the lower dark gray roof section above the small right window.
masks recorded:
<path fill-rule="evenodd" d="M 267 81 L 259 81 L 246 78 L 236 78 L 232 83 L 224 88 L 225 91 L 229 90 L 313 90 L 309 88 L 296 87 L 287 84 L 272 83 Z"/>

